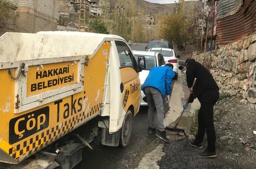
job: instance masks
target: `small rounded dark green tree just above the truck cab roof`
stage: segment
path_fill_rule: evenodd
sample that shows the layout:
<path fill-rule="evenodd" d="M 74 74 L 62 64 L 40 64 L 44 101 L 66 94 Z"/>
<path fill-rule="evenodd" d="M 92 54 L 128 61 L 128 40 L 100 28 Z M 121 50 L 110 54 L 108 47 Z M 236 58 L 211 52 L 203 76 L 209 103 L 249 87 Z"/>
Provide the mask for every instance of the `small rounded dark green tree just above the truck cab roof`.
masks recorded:
<path fill-rule="evenodd" d="M 101 21 L 100 19 L 92 19 L 89 21 L 89 28 L 94 32 L 94 33 L 99 33 L 99 34 L 109 34 L 107 31 L 107 28 L 105 26 L 105 23 Z"/>

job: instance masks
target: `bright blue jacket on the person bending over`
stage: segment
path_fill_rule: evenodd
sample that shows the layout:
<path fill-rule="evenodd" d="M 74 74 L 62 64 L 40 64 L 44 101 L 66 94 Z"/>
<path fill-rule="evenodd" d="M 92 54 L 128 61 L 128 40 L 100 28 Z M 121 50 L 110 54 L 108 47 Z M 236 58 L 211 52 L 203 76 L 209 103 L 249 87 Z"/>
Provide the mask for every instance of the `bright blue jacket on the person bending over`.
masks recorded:
<path fill-rule="evenodd" d="M 174 76 L 175 72 L 169 66 L 153 67 L 143 84 L 142 91 L 146 95 L 145 87 L 155 87 L 165 98 L 166 94 L 171 94 L 171 83 Z"/>

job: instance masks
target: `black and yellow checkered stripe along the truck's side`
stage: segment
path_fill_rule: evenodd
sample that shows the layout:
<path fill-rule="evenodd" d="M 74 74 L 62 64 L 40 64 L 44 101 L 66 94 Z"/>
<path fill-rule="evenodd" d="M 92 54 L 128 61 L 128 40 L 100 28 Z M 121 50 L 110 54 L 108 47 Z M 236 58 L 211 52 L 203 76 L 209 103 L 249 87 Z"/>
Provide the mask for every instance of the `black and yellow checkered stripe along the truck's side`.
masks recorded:
<path fill-rule="evenodd" d="M 101 109 L 101 103 L 93 106 L 91 108 L 91 111 L 85 114 L 85 112 L 82 112 L 80 114 L 77 114 L 75 117 L 72 117 L 71 119 L 64 122 L 64 126 L 59 128 L 59 126 L 52 127 L 51 129 L 47 129 L 46 131 L 42 132 L 40 135 L 36 135 L 33 138 L 29 139 L 28 141 L 23 142 L 23 148 L 20 148 L 20 144 L 16 146 L 16 149 L 14 147 L 9 148 L 9 155 L 12 156 L 14 159 L 18 161 L 19 157 L 21 156 L 29 156 L 40 149 L 48 146 L 55 140 L 59 139 L 63 135 L 69 133 L 72 131 L 73 127 L 78 124 L 79 122 L 83 121 L 84 119 L 94 115 Z"/>

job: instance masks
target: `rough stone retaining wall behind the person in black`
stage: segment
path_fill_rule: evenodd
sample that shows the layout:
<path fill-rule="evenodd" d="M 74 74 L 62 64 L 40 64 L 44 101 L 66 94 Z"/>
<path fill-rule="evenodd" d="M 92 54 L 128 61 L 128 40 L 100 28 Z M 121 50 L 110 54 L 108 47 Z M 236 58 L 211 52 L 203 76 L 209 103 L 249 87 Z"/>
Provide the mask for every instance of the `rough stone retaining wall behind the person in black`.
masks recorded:
<path fill-rule="evenodd" d="M 193 58 L 209 69 L 220 93 L 256 109 L 256 34 Z"/>

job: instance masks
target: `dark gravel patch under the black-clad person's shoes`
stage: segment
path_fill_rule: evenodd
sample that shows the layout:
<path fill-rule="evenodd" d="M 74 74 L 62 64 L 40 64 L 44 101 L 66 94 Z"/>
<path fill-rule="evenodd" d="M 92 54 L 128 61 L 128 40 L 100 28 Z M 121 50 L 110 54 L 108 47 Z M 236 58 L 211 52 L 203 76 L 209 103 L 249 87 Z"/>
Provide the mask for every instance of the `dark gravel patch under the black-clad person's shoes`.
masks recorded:
<path fill-rule="evenodd" d="M 204 147 L 206 147 L 204 145 Z M 160 169 L 256 169 L 255 162 L 240 163 L 232 153 L 218 153 L 215 158 L 201 158 L 196 154 L 203 151 L 189 145 L 188 140 L 172 141 L 165 144 L 166 153 L 158 161 Z"/>

